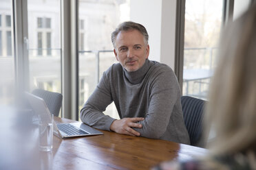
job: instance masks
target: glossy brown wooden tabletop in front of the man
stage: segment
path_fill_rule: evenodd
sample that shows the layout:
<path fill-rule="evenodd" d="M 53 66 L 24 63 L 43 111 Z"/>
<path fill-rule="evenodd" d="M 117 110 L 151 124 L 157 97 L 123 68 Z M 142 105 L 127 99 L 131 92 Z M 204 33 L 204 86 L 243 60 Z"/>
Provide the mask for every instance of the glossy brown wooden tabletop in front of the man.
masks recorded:
<path fill-rule="evenodd" d="M 74 122 L 54 119 L 56 122 Z M 206 154 L 206 149 L 200 147 L 100 131 L 104 134 L 67 139 L 54 136 L 53 151 L 44 153 L 44 166 L 76 170 L 150 169 L 162 161 L 186 160 Z"/>

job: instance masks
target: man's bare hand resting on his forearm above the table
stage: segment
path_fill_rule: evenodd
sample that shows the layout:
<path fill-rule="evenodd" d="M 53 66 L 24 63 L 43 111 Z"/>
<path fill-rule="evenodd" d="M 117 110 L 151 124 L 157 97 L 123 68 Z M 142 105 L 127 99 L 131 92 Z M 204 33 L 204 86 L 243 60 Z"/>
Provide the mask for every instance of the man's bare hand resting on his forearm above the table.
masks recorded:
<path fill-rule="evenodd" d="M 131 136 L 140 136 L 140 133 L 131 127 L 141 128 L 142 125 L 137 123 L 138 121 L 143 121 L 143 117 L 132 117 L 132 118 L 123 118 L 120 120 L 115 120 L 110 125 L 110 130 L 118 134 L 129 134 Z"/>

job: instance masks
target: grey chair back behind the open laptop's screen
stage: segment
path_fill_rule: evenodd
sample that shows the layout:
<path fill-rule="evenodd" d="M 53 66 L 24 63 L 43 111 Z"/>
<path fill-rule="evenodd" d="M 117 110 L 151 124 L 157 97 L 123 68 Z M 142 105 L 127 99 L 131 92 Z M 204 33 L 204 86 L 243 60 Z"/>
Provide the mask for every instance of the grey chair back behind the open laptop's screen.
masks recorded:
<path fill-rule="evenodd" d="M 32 94 L 44 99 L 45 104 L 47 105 L 50 112 L 54 114 L 55 117 L 58 117 L 63 98 L 61 93 L 54 93 L 47 90 L 36 88 L 32 91 Z"/>

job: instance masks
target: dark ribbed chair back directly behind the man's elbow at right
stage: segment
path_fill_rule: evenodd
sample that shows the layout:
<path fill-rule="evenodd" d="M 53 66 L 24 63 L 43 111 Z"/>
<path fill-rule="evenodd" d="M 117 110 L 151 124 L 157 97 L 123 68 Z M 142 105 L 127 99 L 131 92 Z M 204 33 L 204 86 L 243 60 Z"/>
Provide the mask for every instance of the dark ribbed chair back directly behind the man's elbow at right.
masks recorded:
<path fill-rule="evenodd" d="M 191 145 L 204 147 L 202 143 L 202 118 L 206 101 L 189 96 L 181 97 L 182 111 Z"/>

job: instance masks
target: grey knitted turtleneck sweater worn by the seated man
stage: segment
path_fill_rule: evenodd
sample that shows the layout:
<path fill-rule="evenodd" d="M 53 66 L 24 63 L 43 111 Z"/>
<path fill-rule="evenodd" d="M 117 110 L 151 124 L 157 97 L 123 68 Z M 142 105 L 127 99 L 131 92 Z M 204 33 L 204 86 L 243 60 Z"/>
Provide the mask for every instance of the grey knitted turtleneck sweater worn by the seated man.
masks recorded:
<path fill-rule="evenodd" d="M 180 103 L 180 86 L 171 68 L 146 60 L 137 71 L 113 64 L 103 73 L 94 93 L 81 110 L 81 120 L 101 130 L 109 130 L 115 120 L 103 112 L 114 101 L 120 119 L 144 117 L 141 136 L 189 144 Z"/>

